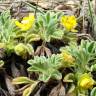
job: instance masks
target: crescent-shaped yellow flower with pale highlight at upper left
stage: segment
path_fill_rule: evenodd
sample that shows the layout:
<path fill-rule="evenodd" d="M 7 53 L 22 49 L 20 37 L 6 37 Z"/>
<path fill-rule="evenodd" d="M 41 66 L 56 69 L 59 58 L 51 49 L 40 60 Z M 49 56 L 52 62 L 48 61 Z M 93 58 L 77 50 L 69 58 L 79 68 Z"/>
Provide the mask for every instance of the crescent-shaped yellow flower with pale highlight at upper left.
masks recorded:
<path fill-rule="evenodd" d="M 21 23 L 16 20 L 15 24 L 16 24 L 16 26 L 21 28 L 22 31 L 27 31 L 32 27 L 34 21 L 35 21 L 35 17 L 32 13 L 30 13 L 29 16 L 24 17 L 22 19 Z"/>

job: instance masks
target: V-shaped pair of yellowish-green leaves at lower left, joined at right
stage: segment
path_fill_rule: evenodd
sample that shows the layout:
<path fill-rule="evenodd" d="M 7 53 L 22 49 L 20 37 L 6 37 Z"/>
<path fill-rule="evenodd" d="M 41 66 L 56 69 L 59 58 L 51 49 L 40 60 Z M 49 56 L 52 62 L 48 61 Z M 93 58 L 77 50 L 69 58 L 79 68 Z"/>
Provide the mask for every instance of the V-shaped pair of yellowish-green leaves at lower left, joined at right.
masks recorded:
<path fill-rule="evenodd" d="M 12 80 L 12 84 L 14 85 L 25 84 L 25 86 L 19 89 L 22 92 L 22 96 L 30 96 L 30 94 L 34 91 L 38 83 L 39 81 L 31 80 L 28 77 L 17 77 Z M 19 93 L 18 90 L 16 90 L 16 92 Z"/>

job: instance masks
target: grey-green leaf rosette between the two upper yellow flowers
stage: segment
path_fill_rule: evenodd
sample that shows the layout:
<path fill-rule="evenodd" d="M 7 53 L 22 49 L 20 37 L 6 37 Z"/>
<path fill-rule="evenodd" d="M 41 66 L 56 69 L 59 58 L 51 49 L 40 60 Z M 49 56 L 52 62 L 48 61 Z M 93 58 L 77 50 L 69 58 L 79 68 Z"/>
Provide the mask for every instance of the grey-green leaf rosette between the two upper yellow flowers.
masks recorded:
<path fill-rule="evenodd" d="M 44 42 L 50 42 L 52 38 L 62 39 L 63 31 L 58 27 L 60 15 L 54 12 L 37 15 L 34 31 Z"/>

